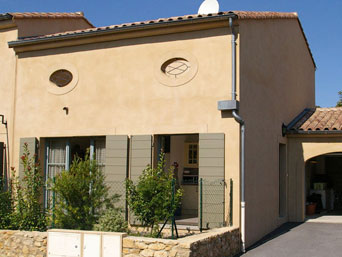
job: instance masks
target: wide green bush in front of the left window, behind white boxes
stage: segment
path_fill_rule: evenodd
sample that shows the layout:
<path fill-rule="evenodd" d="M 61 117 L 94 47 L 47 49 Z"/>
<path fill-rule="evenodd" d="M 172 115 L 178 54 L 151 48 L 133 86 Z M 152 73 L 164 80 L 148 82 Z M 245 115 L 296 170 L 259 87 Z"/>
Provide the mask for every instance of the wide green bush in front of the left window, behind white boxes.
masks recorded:
<path fill-rule="evenodd" d="M 84 160 L 76 157 L 69 171 L 58 174 L 52 184 L 56 227 L 91 230 L 105 209 L 113 208 L 113 197 L 109 197 L 104 179 L 89 152 Z"/>

